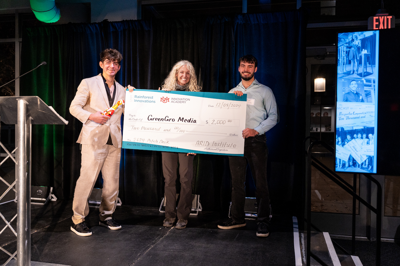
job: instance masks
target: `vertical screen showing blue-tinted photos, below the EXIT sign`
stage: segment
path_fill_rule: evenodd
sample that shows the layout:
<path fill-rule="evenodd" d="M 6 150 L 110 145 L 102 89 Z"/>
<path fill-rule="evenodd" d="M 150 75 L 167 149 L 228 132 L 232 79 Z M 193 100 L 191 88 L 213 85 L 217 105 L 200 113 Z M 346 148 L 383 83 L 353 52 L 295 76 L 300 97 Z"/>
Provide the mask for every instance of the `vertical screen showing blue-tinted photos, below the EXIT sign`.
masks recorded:
<path fill-rule="evenodd" d="M 335 169 L 376 173 L 379 31 L 339 33 L 337 55 Z"/>

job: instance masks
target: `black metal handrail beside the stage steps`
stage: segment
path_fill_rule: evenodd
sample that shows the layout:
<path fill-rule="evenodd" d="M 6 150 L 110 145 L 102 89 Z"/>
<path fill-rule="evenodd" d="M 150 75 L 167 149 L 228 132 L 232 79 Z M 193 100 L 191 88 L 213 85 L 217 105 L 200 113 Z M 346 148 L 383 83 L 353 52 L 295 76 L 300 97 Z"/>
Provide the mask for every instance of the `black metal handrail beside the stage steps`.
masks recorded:
<path fill-rule="evenodd" d="M 381 226 L 382 226 L 382 186 L 380 183 L 374 179 L 371 175 L 368 174 L 363 174 L 366 178 L 368 178 L 370 181 L 374 182 L 377 186 L 377 199 L 376 199 L 376 208 L 374 208 L 371 204 L 366 202 L 366 200 L 362 199 L 359 195 L 356 193 L 356 174 L 354 174 L 353 178 L 353 185 L 350 185 L 347 183 L 344 179 L 339 177 L 336 173 L 334 173 L 331 169 L 326 167 L 323 163 L 318 161 L 314 156 L 312 156 L 312 148 L 314 145 L 322 145 L 325 149 L 330 151 L 330 153 L 334 153 L 334 149 L 330 147 L 327 143 L 323 141 L 319 141 L 314 137 L 306 137 L 303 141 L 303 144 L 305 146 L 306 141 L 308 139 L 315 139 L 316 141 L 313 141 L 310 143 L 308 146 L 308 149 L 306 151 L 307 155 L 307 266 L 310 266 L 310 257 L 314 254 L 311 254 L 311 166 L 314 166 L 316 169 L 318 169 L 321 173 L 326 175 L 329 179 L 334 181 L 337 185 L 342 187 L 344 191 L 349 193 L 350 195 L 353 196 L 353 213 L 352 213 L 352 254 L 354 254 L 354 246 L 355 246 L 355 225 L 356 225 L 356 199 L 364 204 L 367 208 L 372 210 L 376 214 L 376 266 L 380 266 L 380 253 L 381 253 L 381 243 L 380 243 L 380 238 L 381 238 Z M 360 175 L 361 176 L 361 175 Z M 352 188 L 352 190 L 350 189 Z M 314 257 L 314 256 L 312 256 Z"/>

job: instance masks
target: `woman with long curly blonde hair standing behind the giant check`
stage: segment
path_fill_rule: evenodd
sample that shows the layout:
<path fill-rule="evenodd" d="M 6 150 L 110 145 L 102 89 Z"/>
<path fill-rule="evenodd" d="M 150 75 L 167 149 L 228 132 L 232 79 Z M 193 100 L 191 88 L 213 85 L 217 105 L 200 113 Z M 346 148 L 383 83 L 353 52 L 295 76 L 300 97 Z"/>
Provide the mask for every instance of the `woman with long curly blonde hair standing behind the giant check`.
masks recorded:
<path fill-rule="evenodd" d="M 192 63 L 181 60 L 176 63 L 163 82 L 164 91 L 200 91 L 197 85 L 197 77 Z M 160 88 L 159 88 L 160 89 Z M 162 171 L 165 178 L 165 220 L 163 226 L 170 227 L 176 217 L 176 229 L 186 228 L 190 210 L 192 210 L 192 178 L 193 159 L 196 153 L 162 152 Z M 176 208 L 176 170 L 179 162 L 180 196 L 178 208 Z"/>

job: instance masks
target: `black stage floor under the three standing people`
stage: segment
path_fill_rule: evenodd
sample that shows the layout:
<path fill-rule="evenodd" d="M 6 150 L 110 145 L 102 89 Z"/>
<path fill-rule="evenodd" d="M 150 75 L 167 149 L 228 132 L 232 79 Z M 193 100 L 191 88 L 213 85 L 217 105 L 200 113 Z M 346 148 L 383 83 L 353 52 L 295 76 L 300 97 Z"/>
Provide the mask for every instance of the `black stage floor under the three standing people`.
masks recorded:
<path fill-rule="evenodd" d="M 16 203 L 0 205 L 10 220 Z M 70 230 L 72 201 L 57 200 L 32 205 L 31 260 L 72 266 L 154 265 L 295 265 L 293 224 L 290 216 L 274 216 L 270 236 L 256 236 L 256 222 L 232 230 L 217 228 L 226 213 L 202 211 L 190 216 L 186 229 L 164 228 L 164 213 L 158 208 L 118 206 L 114 218 L 120 230 L 98 225 L 98 209 L 91 208 L 86 221 L 92 236 L 77 236 Z M 1 224 L 0 229 L 5 225 Z M 12 222 L 16 229 L 16 221 Z M 7 228 L 0 246 L 16 251 L 16 237 Z M 0 251 L 0 264 L 8 255 Z"/>

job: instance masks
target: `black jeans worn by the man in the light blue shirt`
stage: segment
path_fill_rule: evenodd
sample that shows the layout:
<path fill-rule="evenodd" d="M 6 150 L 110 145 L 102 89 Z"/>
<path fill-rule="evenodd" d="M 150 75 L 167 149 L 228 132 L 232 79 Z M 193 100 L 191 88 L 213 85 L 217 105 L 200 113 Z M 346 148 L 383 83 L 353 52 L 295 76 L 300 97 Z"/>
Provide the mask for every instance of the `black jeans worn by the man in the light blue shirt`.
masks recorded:
<path fill-rule="evenodd" d="M 254 185 L 256 186 L 257 221 L 269 224 L 270 194 L 267 182 L 268 147 L 265 135 L 256 135 L 244 139 L 244 157 L 230 156 L 229 168 L 232 175 L 231 218 L 238 223 L 244 222 L 244 200 L 246 191 L 246 168 L 250 165 Z"/>

